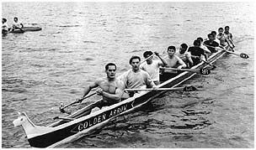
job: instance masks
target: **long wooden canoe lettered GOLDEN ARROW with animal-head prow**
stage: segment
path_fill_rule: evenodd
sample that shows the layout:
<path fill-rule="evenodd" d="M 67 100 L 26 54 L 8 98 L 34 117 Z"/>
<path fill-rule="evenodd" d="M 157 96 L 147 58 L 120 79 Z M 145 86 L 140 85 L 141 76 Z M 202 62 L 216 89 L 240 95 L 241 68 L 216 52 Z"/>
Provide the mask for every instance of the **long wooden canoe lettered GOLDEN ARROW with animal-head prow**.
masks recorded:
<path fill-rule="evenodd" d="M 205 68 L 209 63 L 215 62 L 216 59 L 221 58 L 225 53 L 227 52 L 218 51 L 209 57 L 208 64 L 202 61 L 200 64 L 192 67 L 192 69 Z M 184 71 L 157 86 L 159 88 L 176 87 L 185 80 L 189 80 L 195 74 L 195 72 Z M 74 138 L 83 137 L 97 131 L 115 117 L 133 111 L 164 92 L 166 91 L 143 91 L 125 101 L 120 101 L 120 103 L 91 113 L 92 108 L 97 106 L 99 102 L 96 101 L 48 127 L 36 126 L 25 112 L 19 113 L 18 119 L 13 121 L 13 124 L 15 127 L 22 125 L 31 147 L 56 147 L 62 142 L 69 142 Z"/>

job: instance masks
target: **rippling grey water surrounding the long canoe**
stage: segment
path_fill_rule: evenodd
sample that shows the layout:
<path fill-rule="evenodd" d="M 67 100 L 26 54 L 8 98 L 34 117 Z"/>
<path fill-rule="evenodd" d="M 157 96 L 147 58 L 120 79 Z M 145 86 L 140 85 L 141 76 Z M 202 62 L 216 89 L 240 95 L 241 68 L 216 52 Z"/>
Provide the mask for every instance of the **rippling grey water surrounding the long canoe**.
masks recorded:
<path fill-rule="evenodd" d="M 13 127 L 17 111 L 46 126 L 65 116 L 61 102 L 74 101 L 84 85 L 105 75 L 107 62 L 120 75 L 131 55 L 191 45 L 226 25 L 249 59 L 225 55 L 211 75 L 184 83 L 202 91 L 167 92 L 60 147 L 254 147 L 253 3 L 2 3 L 2 12 L 8 24 L 17 16 L 42 28 L 2 37 L 2 147 L 30 147 L 23 129 Z"/>

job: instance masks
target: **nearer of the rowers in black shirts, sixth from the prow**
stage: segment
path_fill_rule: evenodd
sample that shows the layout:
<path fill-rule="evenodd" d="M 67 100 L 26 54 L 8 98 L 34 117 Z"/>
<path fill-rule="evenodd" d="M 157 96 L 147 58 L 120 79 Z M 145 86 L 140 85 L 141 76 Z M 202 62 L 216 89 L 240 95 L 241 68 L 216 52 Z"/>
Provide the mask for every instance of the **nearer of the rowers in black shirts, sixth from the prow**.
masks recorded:
<path fill-rule="evenodd" d="M 198 65 L 203 58 L 207 61 L 208 57 L 205 50 L 200 48 L 200 40 L 195 39 L 193 44 L 194 46 L 189 47 L 188 52 L 191 54 L 194 65 Z"/>

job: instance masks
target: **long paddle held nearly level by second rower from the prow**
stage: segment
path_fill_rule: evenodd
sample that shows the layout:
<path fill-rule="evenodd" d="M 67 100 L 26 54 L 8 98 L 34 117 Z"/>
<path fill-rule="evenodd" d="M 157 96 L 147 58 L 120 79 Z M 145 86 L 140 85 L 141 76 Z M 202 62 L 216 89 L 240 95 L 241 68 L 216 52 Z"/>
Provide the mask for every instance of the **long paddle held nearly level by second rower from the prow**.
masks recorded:
<path fill-rule="evenodd" d="M 171 87 L 171 88 L 158 88 L 158 89 L 125 89 L 125 91 L 196 91 L 195 86 L 184 86 L 184 87 Z"/>

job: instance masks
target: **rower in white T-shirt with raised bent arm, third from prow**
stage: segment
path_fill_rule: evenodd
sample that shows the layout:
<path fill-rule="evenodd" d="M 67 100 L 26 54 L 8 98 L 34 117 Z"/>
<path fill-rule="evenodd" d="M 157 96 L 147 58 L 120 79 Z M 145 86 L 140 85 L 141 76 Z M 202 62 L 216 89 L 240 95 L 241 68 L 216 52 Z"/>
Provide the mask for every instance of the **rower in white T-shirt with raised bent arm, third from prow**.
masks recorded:
<path fill-rule="evenodd" d="M 140 67 L 141 67 L 141 70 L 145 70 L 150 75 L 155 85 L 159 85 L 160 84 L 159 67 L 167 65 L 167 63 L 157 52 L 155 52 L 155 54 L 159 59 L 152 59 L 153 57 L 152 51 L 146 51 L 143 54 L 143 56 L 147 60 L 146 62 L 143 62 L 140 65 Z"/>

